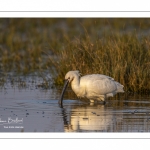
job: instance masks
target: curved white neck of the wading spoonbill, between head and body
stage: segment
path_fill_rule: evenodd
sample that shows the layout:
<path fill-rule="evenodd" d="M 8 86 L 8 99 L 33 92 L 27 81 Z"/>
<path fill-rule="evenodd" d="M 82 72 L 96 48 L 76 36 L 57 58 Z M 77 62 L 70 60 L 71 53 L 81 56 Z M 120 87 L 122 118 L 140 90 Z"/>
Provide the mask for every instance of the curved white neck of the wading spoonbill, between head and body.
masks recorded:
<path fill-rule="evenodd" d="M 71 82 L 71 87 L 72 87 L 72 90 L 75 92 L 75 94 L 78 95 L 78 93 L 80 91 L 80 78 L 79 78 L 79 76 L 75 76 L 75 78 Z"/>

